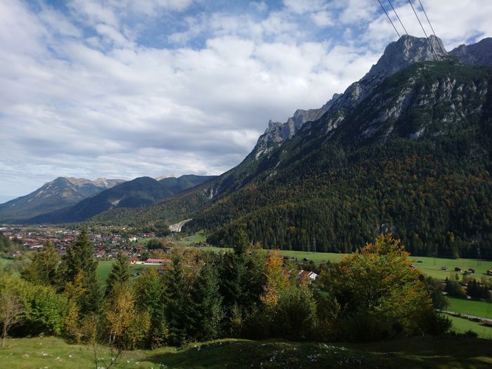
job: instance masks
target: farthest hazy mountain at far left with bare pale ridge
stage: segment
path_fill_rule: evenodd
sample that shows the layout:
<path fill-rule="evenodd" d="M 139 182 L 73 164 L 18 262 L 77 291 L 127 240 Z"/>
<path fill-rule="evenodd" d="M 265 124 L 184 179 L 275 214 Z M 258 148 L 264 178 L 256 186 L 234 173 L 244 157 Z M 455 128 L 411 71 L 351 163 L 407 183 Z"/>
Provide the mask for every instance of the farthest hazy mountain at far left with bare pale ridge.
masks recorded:
<path fill-rule="evenodd" d="M 58 177 L 29 195 L 1 204 L 0 221 L 15 222 L 63 209 L 123 182 L 123 179 L 99 178 L 90 181 L 83 178 Z"/>

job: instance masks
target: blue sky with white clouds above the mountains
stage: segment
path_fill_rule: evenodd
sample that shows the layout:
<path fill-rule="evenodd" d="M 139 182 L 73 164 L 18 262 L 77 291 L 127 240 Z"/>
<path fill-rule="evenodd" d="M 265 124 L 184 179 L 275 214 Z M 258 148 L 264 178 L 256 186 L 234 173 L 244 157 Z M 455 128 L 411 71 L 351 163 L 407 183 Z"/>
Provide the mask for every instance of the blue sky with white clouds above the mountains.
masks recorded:
<path fill-rule="evenodd" d="M 448 51 L 492 36 L 492 1 L 411 3 Z M 58 176 L 224 173 L 396 39 L 377 0 L 0 0 L 0 203 Z"/>

